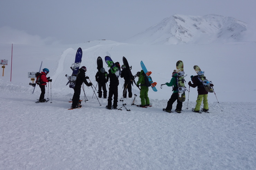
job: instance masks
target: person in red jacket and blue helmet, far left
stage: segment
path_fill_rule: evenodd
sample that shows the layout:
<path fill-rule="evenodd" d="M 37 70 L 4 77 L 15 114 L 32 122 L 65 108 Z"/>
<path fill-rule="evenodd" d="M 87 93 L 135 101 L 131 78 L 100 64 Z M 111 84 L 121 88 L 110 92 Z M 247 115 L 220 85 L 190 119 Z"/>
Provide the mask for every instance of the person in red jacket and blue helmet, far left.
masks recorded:
<path fill-rule="evenodd" d="M 39 102 L 45 102 L 46 99 L 44 98 L 45 95 L 45 85 L 47 84 L 47 82 L 52 82 L 52 79 L 50 79 L 50 77 L 46 78 L 46 75 L 49 73 L 49 69 L 44 68 L 43 71 L 40 74 L 40 84 L 39 87 L 41 89 L 41 94 L 39 97 Z"/>

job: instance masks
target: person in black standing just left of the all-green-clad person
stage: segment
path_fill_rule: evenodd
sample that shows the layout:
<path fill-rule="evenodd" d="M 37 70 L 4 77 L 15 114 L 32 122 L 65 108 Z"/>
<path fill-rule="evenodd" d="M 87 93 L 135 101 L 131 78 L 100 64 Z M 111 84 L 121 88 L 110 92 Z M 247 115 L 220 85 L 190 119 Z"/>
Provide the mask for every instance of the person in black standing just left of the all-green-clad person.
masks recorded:
<path fill-rule="evenodd" d="M 125 79 L 125 84 L 124 84 L 124 90 L 123 90 L 123 97 L 126 98 L 127 97 L 127 90 L 128 90 L 128 97 L 131 98 L 132 97 L 132 92 L 131 92 L 131 83 L 132 83 L 132 79 L 131 79 L 131 74 L 130 71 L 128 70 L 128 68 L 126 68 L 125 65 L 122 65 L 122 71 L 121 71 L 121 78 Z"/>

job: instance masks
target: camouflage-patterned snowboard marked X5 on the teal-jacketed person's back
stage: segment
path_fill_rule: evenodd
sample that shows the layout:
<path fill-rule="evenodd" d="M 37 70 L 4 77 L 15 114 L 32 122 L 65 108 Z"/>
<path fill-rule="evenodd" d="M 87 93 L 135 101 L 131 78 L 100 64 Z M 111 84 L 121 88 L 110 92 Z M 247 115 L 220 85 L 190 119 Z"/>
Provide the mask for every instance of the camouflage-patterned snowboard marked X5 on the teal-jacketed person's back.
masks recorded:
<path fill-rule="evenodd" d="M 178 82 L 178 90 L 179 90 L 179 100 L 181 102 L 184 102 L 186 99 L 185 91 L 187 90 L 185 87 L 185 79 L 184 77 L 184 70 L 183 70 L 183 62 L 181 60 L 177 61 L 176 63 L 176 69 L 177 69 L 177 82 Z"/>

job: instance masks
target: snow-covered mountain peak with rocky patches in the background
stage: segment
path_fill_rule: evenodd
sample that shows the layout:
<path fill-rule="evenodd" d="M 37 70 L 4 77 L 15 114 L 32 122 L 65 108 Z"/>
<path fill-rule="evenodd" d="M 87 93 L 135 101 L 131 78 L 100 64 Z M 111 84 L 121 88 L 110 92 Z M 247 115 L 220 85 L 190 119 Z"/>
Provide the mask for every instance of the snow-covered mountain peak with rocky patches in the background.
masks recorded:
<path fill-rule="evenodd" d="M 232 17 L 175 14 L 125 42 L 137 44 L 239 42 L 243 39 L 246 30 L 246 23 Z"/>

